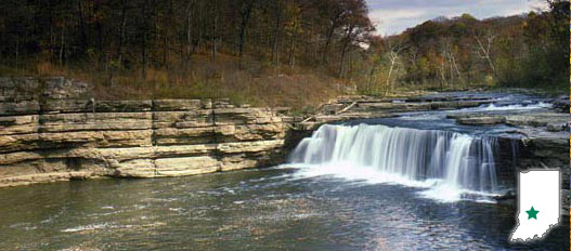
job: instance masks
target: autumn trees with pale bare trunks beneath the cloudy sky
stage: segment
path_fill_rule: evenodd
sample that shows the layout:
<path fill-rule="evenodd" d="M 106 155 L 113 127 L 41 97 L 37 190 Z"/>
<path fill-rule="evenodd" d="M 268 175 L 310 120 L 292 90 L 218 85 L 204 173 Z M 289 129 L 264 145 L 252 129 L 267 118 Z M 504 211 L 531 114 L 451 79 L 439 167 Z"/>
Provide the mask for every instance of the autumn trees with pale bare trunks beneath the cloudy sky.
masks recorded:
<path fill-rule="evenodd" d="M 569 78 L 569 1 L 548 10 L 479 21 L 438 17 L 373 43 L 366 93 L 394 88 L 477 85 L 558 89 Z"/>

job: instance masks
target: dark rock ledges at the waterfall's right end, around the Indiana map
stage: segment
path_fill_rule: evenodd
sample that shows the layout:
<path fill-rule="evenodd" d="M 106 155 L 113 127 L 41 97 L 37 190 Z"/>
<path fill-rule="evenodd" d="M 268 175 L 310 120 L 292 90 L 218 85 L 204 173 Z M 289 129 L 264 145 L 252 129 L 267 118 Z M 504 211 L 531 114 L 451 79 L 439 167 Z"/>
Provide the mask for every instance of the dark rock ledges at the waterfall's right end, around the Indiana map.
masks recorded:
<path fill-rule="evenodd" d="M 557 101 L 556 101 L 557 102 Z M 561 212 L 569 215 L 569 114 L 567 107 L 554 105 L 553 111 L 472 113 L 450 115 L 460 124 L 492 126 L 504 123 L 515 127 L 511 133 L 520 138 L 499 137 L 501 179 L 516 181 L 519 172 L 541 169 L 561 171 Z M 515 162 L 514 162 L 515 161 Z M 510 184 L 516 187 L 517 184 Z"/>

